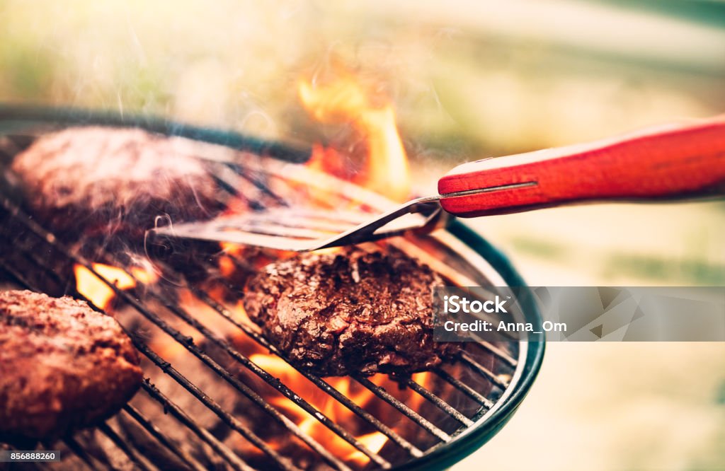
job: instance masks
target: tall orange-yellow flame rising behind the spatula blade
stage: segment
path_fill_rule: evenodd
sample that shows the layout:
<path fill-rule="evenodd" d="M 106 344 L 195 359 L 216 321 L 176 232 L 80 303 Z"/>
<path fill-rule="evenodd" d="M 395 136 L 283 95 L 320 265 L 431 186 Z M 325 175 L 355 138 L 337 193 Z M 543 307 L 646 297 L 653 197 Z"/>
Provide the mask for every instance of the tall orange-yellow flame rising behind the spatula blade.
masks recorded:
<path fill-rule="evenodd" d="M 395 201 L 405 201 L 410 196 L 410 168 L 392 104 L 378 104 L 374 94 L 347 73 L 325 84 L 300 80 L 298 92 L 302 104 L 316 120 L 350 122 L 365 138 L 368 162 L 363 172 L 353 178 L 355 183 Z M 346 167 L 337 151 L 320 145 L 313 146 L 310 165 L 336 175 L 339 172 L 335 170 Z"/>

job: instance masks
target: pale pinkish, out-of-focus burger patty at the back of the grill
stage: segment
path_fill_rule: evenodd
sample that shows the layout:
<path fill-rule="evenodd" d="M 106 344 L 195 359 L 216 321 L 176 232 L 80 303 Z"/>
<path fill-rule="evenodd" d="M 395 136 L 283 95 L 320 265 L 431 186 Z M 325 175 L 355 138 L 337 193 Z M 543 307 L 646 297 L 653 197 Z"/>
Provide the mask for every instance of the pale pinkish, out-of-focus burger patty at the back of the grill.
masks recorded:
<path fill-rule="evenodd" d="M 195 157 L 204 146 L 133 128 L 68 128 L 38 138 L 12 170 L 51 230 L 138 238 L 159 216 L 197 220 L 222 209 L 215 180 Z"/>

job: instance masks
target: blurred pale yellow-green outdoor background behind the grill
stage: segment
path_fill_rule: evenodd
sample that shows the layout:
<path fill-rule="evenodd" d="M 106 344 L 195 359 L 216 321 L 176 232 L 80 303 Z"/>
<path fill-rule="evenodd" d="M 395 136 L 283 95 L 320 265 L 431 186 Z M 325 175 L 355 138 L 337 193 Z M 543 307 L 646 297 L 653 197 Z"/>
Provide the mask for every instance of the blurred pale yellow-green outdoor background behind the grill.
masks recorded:
<path fill-rule="evenodd" d="M 725 2 L 0 0 L 0 101 L 335 141 L 295 83 L 342 62 L 395 104 L 417 191 L 453 165 L 725 112 Z M 532 285 L 723 285 L 725 204 L 471 222 Z M 725 469 L 722 343 L 555 344 L 456 469 Z"/>

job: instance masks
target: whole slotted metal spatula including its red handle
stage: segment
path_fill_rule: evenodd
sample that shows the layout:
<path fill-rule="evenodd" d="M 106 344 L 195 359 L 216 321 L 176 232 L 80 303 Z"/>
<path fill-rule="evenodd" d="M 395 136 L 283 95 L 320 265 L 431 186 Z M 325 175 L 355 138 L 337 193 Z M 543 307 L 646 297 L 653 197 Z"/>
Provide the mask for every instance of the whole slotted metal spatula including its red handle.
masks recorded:
<path fill-rule="evenodd" d="M 369 214 L 299 208 L 250 212 L 155 229 L 172 238 L 289 251 L 425 233 L 449 214 L 478 217 L 585 201 L 660 201 L 725 194 L 725 116 L 650 128 L 589 144 L 460 165 L 439 195 Z M 363 201 L 364 202 L 364 201 Z"/>

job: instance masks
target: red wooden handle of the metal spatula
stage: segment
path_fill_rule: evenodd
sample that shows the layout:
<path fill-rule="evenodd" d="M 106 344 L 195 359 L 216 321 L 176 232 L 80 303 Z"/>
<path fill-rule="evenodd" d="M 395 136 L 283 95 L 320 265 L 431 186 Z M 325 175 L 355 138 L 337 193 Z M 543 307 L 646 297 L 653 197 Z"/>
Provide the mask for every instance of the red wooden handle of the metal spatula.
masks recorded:
<path fill-rule="evenodd" d="M 725 115 L 459 165 L 439 180 L 438 191 L 442 207 L 462 217 L 581 201 L 722 195 Z"/>

